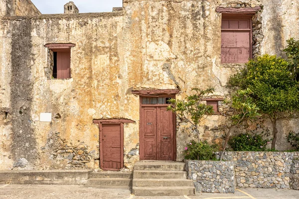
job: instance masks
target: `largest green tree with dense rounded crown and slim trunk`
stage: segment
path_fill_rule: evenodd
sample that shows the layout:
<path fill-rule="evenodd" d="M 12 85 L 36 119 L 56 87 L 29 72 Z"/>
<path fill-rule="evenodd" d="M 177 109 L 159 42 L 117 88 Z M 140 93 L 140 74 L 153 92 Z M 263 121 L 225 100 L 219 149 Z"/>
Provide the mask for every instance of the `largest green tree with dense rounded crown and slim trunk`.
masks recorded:
<path fill-rule="evenodd" d="M 299 83 L 294 72 L 290 71 L 289 63 L 270 55 L 250 60 L 246 68 L 231 76 L 228 86 L 252 91 L 252 101 L 259 107 L 260 113 L 272 121 L 272 149 L 275 149 L 277 121 L 291 118 L 299 110 Z"/>

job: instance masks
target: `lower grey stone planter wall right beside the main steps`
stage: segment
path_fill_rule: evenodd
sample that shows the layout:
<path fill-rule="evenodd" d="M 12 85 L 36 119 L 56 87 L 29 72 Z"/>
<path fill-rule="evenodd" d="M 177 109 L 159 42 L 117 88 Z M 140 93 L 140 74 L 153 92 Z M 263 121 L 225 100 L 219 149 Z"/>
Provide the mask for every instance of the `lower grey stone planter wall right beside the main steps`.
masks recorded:
<path fill-rule="evenodd" d="M 193 180 L 196 192 L 235 193 L 233 161 L 185 160 L 185 163 L 188 178 Z"/>

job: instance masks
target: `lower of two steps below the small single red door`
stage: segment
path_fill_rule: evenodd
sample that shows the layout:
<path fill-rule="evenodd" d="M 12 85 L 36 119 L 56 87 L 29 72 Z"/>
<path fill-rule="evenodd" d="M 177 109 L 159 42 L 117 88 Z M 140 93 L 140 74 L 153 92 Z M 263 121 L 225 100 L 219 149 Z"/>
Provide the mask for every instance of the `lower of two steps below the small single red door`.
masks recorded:
<path fill-rule="evenodd" d="M 127 186 L 132 187 L 132 179 L 125 178 L 90 178 L 88 179 L 88 185 L 97 186 Z"/>

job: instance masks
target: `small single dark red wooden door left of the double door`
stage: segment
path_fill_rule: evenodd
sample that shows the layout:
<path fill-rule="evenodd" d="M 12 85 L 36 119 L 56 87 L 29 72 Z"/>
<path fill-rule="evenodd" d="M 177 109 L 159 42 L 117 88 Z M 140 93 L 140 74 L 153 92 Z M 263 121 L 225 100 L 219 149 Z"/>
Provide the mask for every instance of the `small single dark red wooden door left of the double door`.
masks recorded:
<path fill-rule="evenodd" d="M 101 169 L 119 170 L 122 168 L 121 124 L 102 124 Z M 100 132 L 100 133 L 101 133 Z M 100 143 L 101 144 L 101 143 Z"/>

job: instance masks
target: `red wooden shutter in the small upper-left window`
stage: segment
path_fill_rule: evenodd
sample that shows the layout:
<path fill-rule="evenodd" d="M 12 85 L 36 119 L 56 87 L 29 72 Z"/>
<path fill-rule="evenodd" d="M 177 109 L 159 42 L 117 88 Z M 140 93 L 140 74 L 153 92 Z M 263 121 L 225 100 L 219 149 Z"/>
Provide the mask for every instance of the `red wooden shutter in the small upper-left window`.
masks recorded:
<path fill-rule="evenodd" d="M 71 78 L 71 52 L 57 52 L 57 79 Z"/>

